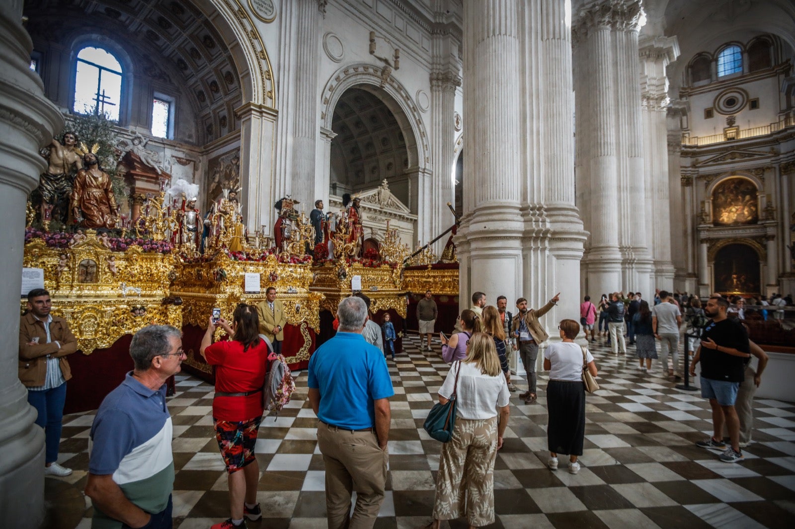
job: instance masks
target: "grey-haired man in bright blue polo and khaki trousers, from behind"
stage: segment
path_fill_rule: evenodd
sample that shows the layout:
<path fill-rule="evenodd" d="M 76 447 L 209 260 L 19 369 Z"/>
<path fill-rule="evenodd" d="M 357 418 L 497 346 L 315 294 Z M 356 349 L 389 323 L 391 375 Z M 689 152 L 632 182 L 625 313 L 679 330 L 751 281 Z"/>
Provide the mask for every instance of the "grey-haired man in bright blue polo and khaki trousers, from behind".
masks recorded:
<path fill-rule="evenodd" d="M 373 527 L 384 500 L 394 390 L 383 354 L 362 336 L 363 299 L 343 299 L 337 319 L 337 334 L 312 354 L 308 370 L 309 402 L 320 419 L 317 445 L 326 467 L 328 527 Z"/>

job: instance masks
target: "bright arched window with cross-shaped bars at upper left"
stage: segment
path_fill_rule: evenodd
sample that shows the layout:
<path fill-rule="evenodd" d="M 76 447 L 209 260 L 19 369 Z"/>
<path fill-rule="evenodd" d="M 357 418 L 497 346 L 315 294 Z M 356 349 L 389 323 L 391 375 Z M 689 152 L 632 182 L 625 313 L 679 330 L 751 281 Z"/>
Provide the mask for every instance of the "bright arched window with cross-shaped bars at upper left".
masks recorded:
<path fill-rule="evenodd" d="M 103 48 L 87 47 L 77 54 L 75 112 L 107 114 L 118 121 L 122 102 L 122 65 Z"/>

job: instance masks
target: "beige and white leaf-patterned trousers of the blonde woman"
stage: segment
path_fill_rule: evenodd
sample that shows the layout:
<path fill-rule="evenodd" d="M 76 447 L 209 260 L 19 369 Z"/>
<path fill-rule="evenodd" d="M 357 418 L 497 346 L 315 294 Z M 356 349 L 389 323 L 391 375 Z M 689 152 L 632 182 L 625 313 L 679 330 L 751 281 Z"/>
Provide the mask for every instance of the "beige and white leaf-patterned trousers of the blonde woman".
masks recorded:
<path fill-rule="evenodd" d="M 456 419 L 452 439 L 442 445 L 436 477 L 434 519 L 467 516 L 475 527 L 494 523 L 494 459 L 497 417 Z"/>

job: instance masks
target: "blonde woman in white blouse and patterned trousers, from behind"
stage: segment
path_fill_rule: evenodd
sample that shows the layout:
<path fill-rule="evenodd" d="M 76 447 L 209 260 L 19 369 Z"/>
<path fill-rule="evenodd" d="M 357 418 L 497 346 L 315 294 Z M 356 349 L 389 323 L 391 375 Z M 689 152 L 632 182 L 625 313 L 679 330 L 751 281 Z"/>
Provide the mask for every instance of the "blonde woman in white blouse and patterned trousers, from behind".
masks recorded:
<path fill-rule="evenodd" d="M 456 373 L 456 427 L 442 445 L 433 522 L 426 529 L 439 529 L 441 520 L 461 516 L 469 527 L 494 523 L 494 460 L 510 413 L 494 339 L 476 332 L 467 340 L 467 357 L 453 363 L 439 389 L 441 404 L 452 396 Z"/>

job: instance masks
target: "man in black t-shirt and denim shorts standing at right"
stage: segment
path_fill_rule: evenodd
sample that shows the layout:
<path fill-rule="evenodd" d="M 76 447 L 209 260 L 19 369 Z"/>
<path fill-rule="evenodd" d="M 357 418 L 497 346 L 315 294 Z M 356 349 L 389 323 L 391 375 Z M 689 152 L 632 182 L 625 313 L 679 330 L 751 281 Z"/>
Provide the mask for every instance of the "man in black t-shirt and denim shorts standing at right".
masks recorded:
<path fill-rule="evenodd" d="M 712 406 L 712 438 L 696 442 L 696 446 L 710 450 L 724 450 L 720 461 L 743 461 L 739 446 L 739 419 L 735 400 L 743 381 L 745 361 L 750 357 L 750 345 L 745 328 L 736 320 L 727 319 L 729 302 L 726 298 L 712 297 L 704 312 L 712 322 L 701 335 L 701 346 L 690 364 L 690 374 L 696 375 L 696 364 L 701 362 L 701 396 Z M 731 446 L 723 442 L 723 423 L 729 431 Z"/>

